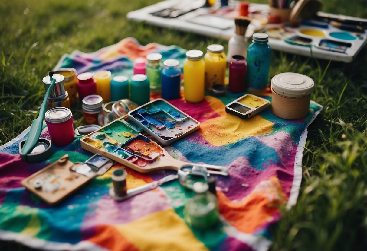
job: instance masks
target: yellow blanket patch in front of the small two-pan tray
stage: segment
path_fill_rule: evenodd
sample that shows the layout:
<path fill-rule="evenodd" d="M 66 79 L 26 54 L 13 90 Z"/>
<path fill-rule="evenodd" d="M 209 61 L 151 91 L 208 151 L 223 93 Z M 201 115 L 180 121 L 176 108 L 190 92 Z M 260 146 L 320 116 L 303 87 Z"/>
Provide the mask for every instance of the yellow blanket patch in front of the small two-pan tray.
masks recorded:
<path fill-rule="evenodd" d="M 226 113 L 225 105 L 222 102 L 213 102 L 213 99 L 216 98 L 206 97 L 206 99 L 212 109 L 221 116 L 202 122 L 198 132 L 214 146 L 235 143 L 250 136 L 268 135 L 273 130 L 273 123 L 260 115 L 255 115 L 250 119 L 240 119 Z"/>

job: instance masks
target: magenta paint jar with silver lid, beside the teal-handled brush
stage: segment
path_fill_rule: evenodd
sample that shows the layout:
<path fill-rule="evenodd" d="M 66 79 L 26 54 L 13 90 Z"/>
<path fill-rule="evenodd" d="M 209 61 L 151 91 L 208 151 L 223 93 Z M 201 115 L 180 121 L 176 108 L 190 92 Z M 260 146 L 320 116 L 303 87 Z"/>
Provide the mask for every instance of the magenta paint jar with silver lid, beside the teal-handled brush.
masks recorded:
<path fill-rule="evenodd" d="M 74 141 L 73 114 L 65 107 L 48 110 L 45 121 L 52 144 L 66 146 Z"/>

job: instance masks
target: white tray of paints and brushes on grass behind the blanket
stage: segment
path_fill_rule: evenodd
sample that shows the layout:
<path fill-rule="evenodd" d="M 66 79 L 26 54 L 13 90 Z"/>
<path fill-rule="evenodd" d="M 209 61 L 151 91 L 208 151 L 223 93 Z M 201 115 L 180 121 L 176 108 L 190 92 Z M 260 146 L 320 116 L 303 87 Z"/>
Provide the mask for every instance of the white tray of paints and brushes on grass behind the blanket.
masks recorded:
<path fill-rule="evenodd" d="M 201 7 L 195 10 L 187 8 L 200 4 Z M 208 6 L 201 0 L 183 3 L 166 0 L 129 12 L 127 17 L 138 22 L 228 39 L 229 62 L 235 55 L 232 54 L 233 41 L 242 42 L 242 38 L 237 36 L 239 25 L 233 19 L 248 16 L 251 22 L 246 29 L 246 41 L 253 33 L 261 31 L 269 35 L 269 45 L 274 50 L 352 62 L 366 44 L 367 19 L 328 14 L 321 12 L 321 7 L 317 0 L 270 1 L 269 4 L 250 3 L 246 11 L 241 1 L 230 1 L 224 6 L 217 1 Z M 181 14 L 170 15 L 176 12 Z"/>

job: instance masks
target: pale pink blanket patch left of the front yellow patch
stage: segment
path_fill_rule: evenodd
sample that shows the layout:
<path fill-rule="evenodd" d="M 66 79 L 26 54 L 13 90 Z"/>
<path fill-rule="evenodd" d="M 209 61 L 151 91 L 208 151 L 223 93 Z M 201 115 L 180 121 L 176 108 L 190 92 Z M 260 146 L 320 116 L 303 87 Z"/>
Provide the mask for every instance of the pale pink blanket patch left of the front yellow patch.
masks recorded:
<path fill-rule="evenodd" d="M 168 197 L 162 188 L 143 192 L 123 202 L 116 202 L 110 196 L 103 196 L 97 202 L 97 207 L 91 209 L 94 212 L 86 213 L 82 228 L 126 224 L 169 207 Z"/>

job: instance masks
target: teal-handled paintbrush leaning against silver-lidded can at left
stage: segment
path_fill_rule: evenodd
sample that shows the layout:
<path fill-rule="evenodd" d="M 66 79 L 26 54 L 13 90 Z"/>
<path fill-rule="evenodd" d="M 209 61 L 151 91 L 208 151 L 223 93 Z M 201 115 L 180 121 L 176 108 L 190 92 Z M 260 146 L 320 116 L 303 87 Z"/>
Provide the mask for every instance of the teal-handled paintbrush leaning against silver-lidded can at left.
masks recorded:
<path fill-rule="evenodd" d="M 21 154 L 26 155 L 32 150 L 34 145 L 37 143 L 38 139 L 40 138 L 41 131 L 42 131 L 42 123 L 43 123 L 43 117 L 46 112 L 46 103 L 48 100 L 48 97 L 50 97 L 51 89 L 55 85 L 56 79 L 52 78 L 54 75 L 53 71 L 48 72 L 48 75 L 50 76 L 51 85 L 48 87 L 45 97 L 43 98 L 43 102 L 41 104 L 40 113 L 37 117 L 37 119 L 34 119 L 32 122 L 32 125 L 30 126 L 28 137 L 24 143 L 24 146 L 21 149 Z"/>

